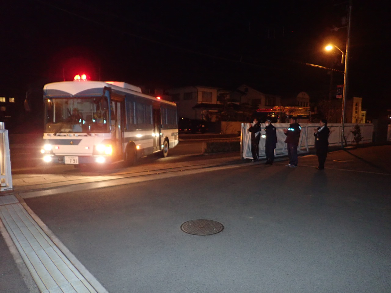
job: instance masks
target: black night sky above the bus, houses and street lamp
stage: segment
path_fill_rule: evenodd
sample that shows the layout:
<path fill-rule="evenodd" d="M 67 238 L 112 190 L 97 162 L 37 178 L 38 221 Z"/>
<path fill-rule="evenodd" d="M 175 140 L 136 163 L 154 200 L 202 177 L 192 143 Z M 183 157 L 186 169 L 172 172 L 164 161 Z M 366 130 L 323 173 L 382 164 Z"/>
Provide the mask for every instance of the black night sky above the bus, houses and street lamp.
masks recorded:
<path fill-rule="evenodd" d="M 343 70 L 340 53 L 323 48 L 333 41 L 344 50 L 346 29 L 331 28 L 342 26 L 346 3 L 227 2 L 5 2 L 0 95 L 23 96 L 29 87 L 86 72 L 94 80 L 138 86 L 232 89 L 245 83 L 271 94 L 328 96 L 327 71 L 300 62 Z M 349 95 L 362 96 L 369 111 L 391 108 L 391 11 L 374 3 L 353 0 L 349 66 Z M 342 84 L 341 73 L 334 78 Z"/>

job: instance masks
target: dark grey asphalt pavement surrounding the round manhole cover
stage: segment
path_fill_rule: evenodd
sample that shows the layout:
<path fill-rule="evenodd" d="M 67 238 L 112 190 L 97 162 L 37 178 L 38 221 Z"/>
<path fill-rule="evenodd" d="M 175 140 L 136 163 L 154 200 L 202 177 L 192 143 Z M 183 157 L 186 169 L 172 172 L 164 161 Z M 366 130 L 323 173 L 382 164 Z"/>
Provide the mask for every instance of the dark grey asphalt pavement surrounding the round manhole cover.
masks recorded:
<path fill-rule="evenodd" d="M 26 202 L 109 292 L 390 292 L 390 165 L 359 148 Z"/>

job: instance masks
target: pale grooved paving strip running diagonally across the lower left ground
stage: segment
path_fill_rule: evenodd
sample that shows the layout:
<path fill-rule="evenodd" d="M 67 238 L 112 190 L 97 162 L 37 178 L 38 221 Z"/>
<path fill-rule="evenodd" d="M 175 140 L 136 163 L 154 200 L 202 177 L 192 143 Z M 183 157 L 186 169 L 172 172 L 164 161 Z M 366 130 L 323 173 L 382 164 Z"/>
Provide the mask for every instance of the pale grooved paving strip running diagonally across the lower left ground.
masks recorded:
<path fill-rule="evenodd" d="M 8 203 L 17 200 L 14 195 L 0 199 L 5 202 L 0 205 L 0 219 L 41 292 L 107 293 L 84 266 L 81 266 L 84 273 L 88 272 L 85 274 L 88 275 L 88 281 L 86 280 L 85 275 L 59 249 L 63 246 L 62 243 L 59 245 L 57 238 L 57 243 L 52 241 L 34 220 L 38 217 L 34 214 L 33 218 L 25 209 L 25 203 Z M 40 220 L 39 222 L 43 224 Z M 69 250 L 67 252 L 70 255 Z M 75 261 L 76 258 L 73 255 L 72 257 Z M 78 261 L 75 263 L 80 264 Z M 91 286 L 92 283 L 94 286 Z"/>

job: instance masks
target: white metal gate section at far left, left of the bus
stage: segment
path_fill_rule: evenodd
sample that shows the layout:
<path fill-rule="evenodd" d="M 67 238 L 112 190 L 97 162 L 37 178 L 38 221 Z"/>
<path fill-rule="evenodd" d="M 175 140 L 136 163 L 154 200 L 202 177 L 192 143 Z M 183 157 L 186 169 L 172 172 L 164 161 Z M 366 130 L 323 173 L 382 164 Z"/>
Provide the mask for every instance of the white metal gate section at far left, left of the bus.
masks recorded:
<path fill-rule="evenodd" d="M 0 122 L 0 191 L 12 190 L 11 158 L 9 156 L 8 130 Z"/>

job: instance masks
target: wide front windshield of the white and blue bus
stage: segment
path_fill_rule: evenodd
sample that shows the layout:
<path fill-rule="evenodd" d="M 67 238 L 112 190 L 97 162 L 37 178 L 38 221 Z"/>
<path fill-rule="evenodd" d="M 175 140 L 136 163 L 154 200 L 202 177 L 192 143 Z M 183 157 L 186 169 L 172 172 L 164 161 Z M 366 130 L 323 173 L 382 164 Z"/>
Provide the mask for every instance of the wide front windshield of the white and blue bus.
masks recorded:
<path fill-rule="evenodd" d="M 46 98 L 45 132 L 109 132 L 107 98 Z"/>

